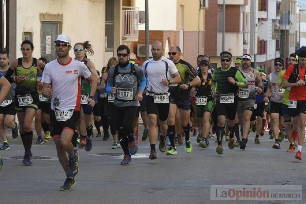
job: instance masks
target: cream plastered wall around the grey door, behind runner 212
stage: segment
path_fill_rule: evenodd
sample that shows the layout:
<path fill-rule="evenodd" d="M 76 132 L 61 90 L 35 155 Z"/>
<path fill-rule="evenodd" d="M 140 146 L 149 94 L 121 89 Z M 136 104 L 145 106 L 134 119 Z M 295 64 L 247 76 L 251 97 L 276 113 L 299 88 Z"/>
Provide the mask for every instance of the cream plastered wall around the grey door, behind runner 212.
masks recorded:
<path fill-rule="evenodd" d="M 95 55 L 90 59 L 97 70 L 104 65 L 105 51 L 105 0 L 18 0 L 17 1 L 17 58 L 22 57 L 19 49 L 22 32 L 33 33 L 33 57 L 40 57 L 39 13 L 63 14 L 62 34 L 68 34 L 71 44 L 90 40 Z M 51 46 L 54 46 L 51 43 Z M 73 49 L 69 52 L 74 57 Z"/>

